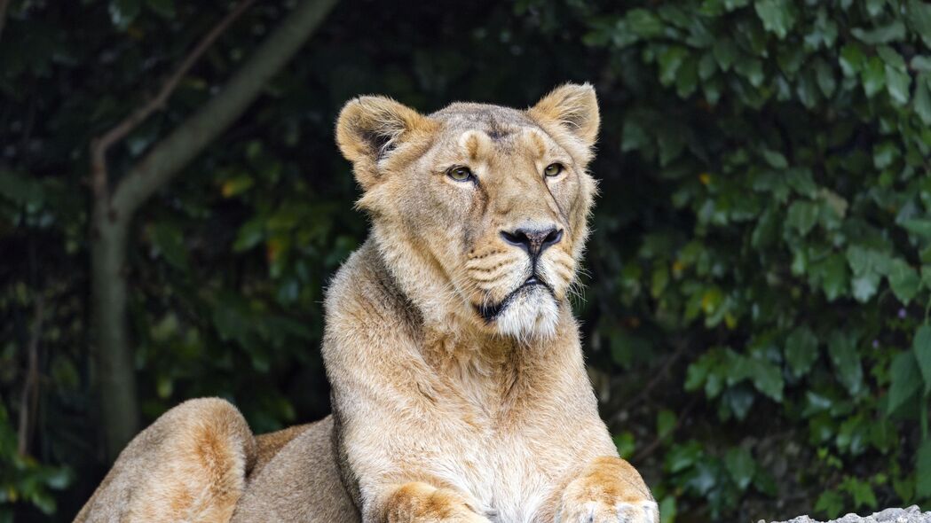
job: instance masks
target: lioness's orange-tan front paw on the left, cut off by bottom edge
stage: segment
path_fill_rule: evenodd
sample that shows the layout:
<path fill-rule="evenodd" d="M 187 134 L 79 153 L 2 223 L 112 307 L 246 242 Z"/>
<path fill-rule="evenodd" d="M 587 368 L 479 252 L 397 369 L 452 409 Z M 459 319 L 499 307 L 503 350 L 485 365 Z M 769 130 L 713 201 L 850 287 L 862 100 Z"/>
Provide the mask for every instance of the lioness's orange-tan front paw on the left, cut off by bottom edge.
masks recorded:
<path fill-rule="evenodd" d="M 385 523 L 490 523 L 456 491 L 420 481 L 392 489 L 380 504 L 374 519 Z"/>

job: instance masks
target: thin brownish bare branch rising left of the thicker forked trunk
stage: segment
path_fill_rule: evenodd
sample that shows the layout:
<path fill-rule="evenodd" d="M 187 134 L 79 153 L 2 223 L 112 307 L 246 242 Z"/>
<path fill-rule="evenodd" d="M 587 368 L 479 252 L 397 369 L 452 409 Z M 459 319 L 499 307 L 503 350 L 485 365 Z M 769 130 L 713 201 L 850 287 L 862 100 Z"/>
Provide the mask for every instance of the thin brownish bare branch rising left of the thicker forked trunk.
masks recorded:
<path fill-rule="evenodd" d="M 2 13 L 2 8 L 7 1 L 8 0 L 0 0 L 0 13 Z M 171 93 L 178 88 L 184 75 L 194 67 L 197 60 L 200 60 L 200 57 L 217 41 L 217 38 L 219 38 L 220 35 L 254 3 L 255 0 L 242 0 L 239 2 L 236 8 L 230 11 L 223 20 L 220 20 L 208 34 L 200 39 L 196 47 L 191 49 L 191 52 L 184 57 L 184 60 L 182 60 L 178 68 L 168 77 L 165 84 L 162 85 L 162 88 L 151 100 L 133 111 L 124 118 L 123 121 L 116 124 L 115 127 L 105 132 L 102 136 L 90 142 L 90 168 L 94 195 L 97 198 L 107 200 L 110 197 L 109 183 L 107 181 L 107 151 L 110 147 L 117 141 L 126 138 L 133 129 L 138 127 L 139 124 L 155 113 L 155 111 L 164 109 L 165 102 L 169 100 Z M 0 20 L 0 28 L 2 28 L 2 25 L 3 22 Z"/>

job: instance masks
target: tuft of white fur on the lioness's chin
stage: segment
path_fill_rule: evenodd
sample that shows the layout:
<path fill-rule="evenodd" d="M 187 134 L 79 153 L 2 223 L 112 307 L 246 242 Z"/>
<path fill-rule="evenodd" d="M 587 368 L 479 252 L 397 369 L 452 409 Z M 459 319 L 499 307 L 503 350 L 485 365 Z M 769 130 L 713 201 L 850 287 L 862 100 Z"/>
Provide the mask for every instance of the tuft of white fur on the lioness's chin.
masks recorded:
<path fill-rule="evenodd" d="M 524 340 L 549 338 L 556 333 L 560 308 L 543 288 L 532 288 L 511 299 L 495 318 L 498 331 Z"/>

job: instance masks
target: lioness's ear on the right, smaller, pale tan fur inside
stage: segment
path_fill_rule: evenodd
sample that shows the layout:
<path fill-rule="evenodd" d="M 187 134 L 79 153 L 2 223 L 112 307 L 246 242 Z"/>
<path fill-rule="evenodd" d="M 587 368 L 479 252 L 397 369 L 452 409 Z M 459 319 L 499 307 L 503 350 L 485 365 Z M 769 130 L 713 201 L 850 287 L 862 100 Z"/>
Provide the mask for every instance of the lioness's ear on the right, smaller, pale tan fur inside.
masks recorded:
<path fill-rule="evenodd" d="M 559 125 L 587 147 L 598 140 L 598 98 L 591 84 L 556 87 L 528 112 L 538 120 Z"/>

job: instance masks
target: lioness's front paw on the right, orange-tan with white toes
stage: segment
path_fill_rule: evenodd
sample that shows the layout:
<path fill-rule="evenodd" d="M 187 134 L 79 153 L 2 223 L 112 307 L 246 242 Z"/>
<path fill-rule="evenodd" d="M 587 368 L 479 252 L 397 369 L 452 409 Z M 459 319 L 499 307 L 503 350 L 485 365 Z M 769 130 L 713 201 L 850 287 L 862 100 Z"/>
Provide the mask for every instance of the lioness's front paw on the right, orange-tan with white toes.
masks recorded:
<path fill-rule="evenodd" d="M 559 523 L 658 523 L 650 489 L 630 463 L 596 458 L 562 491 Z"/>

